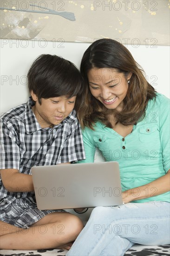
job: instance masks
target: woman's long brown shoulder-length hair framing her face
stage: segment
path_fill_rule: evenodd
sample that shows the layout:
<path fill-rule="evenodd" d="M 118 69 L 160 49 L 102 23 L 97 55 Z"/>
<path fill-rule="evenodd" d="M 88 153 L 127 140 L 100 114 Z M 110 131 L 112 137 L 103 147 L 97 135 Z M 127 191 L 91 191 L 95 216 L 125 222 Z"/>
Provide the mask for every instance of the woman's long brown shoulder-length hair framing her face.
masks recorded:
<path fill-rule="evenodd" d="M 132 73 L 124 98 L 123 110 L 112 111 L 116 123 L 127 126 L 141 121 L 144 118 L 148 101 L 156 97 L 155 89 L 146 81 L 143 69 L 126 47 L 112 39 L 99 39 L 87 48 L 80 66 L 84 80 L 84 93 L 77 115 L 82 128 L 87 126 L 93 129 L 96 121 L 101 121 L 105 126 L 112 128 L 108 118 L 108 109 L 91 94 L 89 89 L 87 74 L 93 67 L 115 68 L 125 77 Z"/>

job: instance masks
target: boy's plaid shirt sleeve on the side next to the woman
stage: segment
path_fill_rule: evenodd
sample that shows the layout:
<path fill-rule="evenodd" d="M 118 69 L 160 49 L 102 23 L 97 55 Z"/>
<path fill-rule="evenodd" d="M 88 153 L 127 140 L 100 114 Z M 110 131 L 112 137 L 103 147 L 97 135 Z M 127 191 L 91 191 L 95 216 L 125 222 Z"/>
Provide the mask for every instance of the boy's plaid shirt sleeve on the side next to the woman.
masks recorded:
<path fill-rule="evenodd" d="M 81 127 L 77 120 L 72 125 L 70 134 L 66 137 L 59 163 L 74 162 L 82 159 L 85 159 L 85 150 Z"/>

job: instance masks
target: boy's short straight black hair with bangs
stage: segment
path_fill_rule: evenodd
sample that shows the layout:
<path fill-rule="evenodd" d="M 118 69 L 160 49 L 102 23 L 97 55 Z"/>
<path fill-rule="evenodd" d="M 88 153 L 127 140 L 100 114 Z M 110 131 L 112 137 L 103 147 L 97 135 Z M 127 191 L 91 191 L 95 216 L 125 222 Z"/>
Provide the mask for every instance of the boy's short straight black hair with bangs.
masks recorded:
<path fill-rule="evenodd" d="M 62 95 L 71 98 L 82 93 L 82 77 L 78 68 L 57 55 L 42 54 L 33 61 L 28 74 L 28 88 L 41 98 Z"/>

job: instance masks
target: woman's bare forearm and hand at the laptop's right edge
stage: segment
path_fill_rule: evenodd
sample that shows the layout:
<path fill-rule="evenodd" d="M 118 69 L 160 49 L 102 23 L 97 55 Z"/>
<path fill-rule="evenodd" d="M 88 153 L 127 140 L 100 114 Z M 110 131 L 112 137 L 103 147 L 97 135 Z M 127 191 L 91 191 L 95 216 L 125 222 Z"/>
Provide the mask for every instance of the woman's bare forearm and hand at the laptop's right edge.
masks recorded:
<path fill-rule="evenodd" d="M 131 202 L 135 200 L 140 200 L 148 198 L 155 195 L 160 195 L 170 191 L 170 170 L 158 178 L 157 180 L 150 182 L 146 185 L 128 189 L 122 193 L 123 202 Z"/>

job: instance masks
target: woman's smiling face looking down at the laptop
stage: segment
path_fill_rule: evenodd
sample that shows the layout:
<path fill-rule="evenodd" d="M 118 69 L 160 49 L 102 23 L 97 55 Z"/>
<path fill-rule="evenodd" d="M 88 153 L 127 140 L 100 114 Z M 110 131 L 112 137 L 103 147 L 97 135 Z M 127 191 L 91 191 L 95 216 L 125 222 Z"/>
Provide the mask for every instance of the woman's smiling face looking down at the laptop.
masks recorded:
<path fill-rule="evenodd" d="M 128 91 L 128 80 L 123 73 L 118 73 L 115 68 L 93 67 L 87 74 L 92 95 L 108 109 L 123 108 L 123 100 Z"/>

